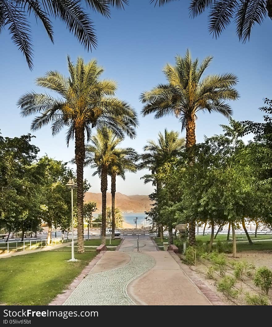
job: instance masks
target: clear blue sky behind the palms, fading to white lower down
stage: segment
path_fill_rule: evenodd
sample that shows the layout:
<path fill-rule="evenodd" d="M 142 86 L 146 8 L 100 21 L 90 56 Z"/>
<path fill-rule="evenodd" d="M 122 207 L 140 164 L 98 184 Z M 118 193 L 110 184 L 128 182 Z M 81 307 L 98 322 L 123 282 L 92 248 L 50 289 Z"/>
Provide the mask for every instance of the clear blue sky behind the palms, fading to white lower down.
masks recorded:
<path fill-rule="evenodd" d="M 40 90 L 34 79 L 48 70 L 58 70 L 67 75 L 67 54 L 73 60 L 82 56 L 84 60 L 96 58 L 103 65 L 102 77 L 117 81 L 118 97 L 129 102 L 140 113 L 142 105 L 139 94 L 149 90 L 158 83 L 165 82 L 161 72 L 163 66 L 174 63 L 178 53 L 184 55 L 187 48 L 192 57 L 200 60 L 213 55 L 214 60 L 209 73 L 232 72 L 239 77 L 238 90 L 240 100 L 231 103 L 234 119 L 262 120 L 258 110 L 263 105 L 264 97 L 271 95 L 271 20 L 262 26 L 253 28 L 250 42 L 238 42 L 235 26 L 228 28 L 215 40 L 208 32 L 207 16 L 201 15 L 192 20 L 189 18 L 188 1 L 178 1 L 162 8 L 154 8 L 149 0 L 131 0 L 125 11 L 112 10 L 111 19 L 91 13 L 97 29 L 98 47 L 92 53 L 83 47 L 71 35 L 66 27 L 54 23 L 55 44 L 51 44 L 41 24 L 33 25 L 34 70 L 29 71 L 23 55 L 11 42 L 7 31 L 1 37 L 1 132 L 3 136 L 19 136 L 30 131 L 31 117 L 21 118 L 16 107 L 17 99 L 27 91 Z M 124 146 L 133 146 L 141 152 L 146 139 L 155 139 L 165 127 L 180 131 L 179 122 L 174 117 L 154 120 L 150 115 L 139 117 L 140 127 L 135 140 L 125 140 Z M 197 141 L 203 135 L 211 136 L 220 133 L 219 124 L 226 124 L 227 119 L 219 114 L 200 114 L 197 120 Z M 69 148 L 65 144 L 63 131 L 52 138 L 50 127 L 34 133 L 34 143 L 40 147 L 40 156 L 47 153 L 57 159 L 69 161 L 74 156 L 73 142 Z M 184 133 L 183 133 L 184 136 Z M 144 185 L 140 177 L 144 172 L 127 174 L 126 181 L 117 181 L 117 191 L 132 194 L 149 194 L 152 185 Z M 85 169 L 85 177 L 91 183 L 92 192 L 100 192 L 97 177 Z M 110 190 L 110 185 L 108 187 Z"/>

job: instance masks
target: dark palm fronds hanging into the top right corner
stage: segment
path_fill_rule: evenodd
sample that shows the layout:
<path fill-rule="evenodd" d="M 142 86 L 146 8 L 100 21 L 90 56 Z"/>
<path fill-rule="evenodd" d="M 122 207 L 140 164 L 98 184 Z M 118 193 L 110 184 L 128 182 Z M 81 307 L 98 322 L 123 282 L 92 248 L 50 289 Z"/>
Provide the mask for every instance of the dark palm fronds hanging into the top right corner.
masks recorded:
<path fill-rule="evenodd" d="M 151 0 L 159 6 L 176 0 Z M 272 19 L 272 0 L 191 0 L 190 14 L 194 18 L 210 9 L 209 31 L 217 38 L 230 24 L 236 23 L 239 41 L 249 40 L 255 23 L 261 25 L 266 15 Z"/>

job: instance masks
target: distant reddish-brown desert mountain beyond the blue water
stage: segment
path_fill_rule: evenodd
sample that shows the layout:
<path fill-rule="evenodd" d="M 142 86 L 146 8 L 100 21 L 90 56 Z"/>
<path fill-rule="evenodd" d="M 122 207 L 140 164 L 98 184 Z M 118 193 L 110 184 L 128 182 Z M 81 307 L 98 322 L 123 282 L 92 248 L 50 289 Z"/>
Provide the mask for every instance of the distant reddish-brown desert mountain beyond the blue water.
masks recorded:
<path fill-rule="evenodd" d="M 85 202 L 95 201 L 98 210 L 101 212 L 101 193 L 86 192 Z M 115 208 L 122 212 L 144 212 L 150 209 L 151 201 L 148 195 L 125 195 L 119 192 L 115 193 Z M 111 207 L 111 194 L 107 193 L 107 206 Z"/>

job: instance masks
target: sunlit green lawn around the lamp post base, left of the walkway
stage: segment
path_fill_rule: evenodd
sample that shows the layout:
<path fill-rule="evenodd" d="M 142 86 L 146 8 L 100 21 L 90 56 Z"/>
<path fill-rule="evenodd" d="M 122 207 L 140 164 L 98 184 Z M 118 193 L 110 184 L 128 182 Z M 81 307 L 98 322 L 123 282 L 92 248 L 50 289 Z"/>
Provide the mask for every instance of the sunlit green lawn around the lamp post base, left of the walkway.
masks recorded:
<path fill-rule="evenodd" d="M 67 262 L 69 251 L 44 251 L 0 259 L 0 303 L 46 305 L 61 293 L 96 256 L 96 251 L 78 254 Z"/>

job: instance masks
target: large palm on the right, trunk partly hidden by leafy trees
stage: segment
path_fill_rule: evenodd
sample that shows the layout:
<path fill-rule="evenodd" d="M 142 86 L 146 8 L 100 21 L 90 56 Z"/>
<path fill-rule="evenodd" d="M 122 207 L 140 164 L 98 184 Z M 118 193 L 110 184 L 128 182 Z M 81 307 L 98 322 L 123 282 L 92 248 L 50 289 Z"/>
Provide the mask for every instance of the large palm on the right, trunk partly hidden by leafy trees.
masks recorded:
<path fill-rule="evenodd" d="M 176 56 L 176 65 L 167 64 L 163 72 L 167 84 L 159 84 L 151 91 L 141 94 L 145 106 L 143 116 L 155 113 L 154 118 L 175 115 L 186 129 L 186 148 L 196 144 L 196 114 L 198 112 L 219 112 L 230 117 L 232 110 L 227 100 L 236 100 L 239 95 L 233 88 L 238 78 L 231 74 L 207 75 L 201 80 L 213 57 L 206 57 L 199 65 L 192 61 L 189 50 L 184 57 Z M 193 160 L 193 158 L 192 158 Z M 189 241 L 195 244 L 195 221 L 189 224 Z"/>

